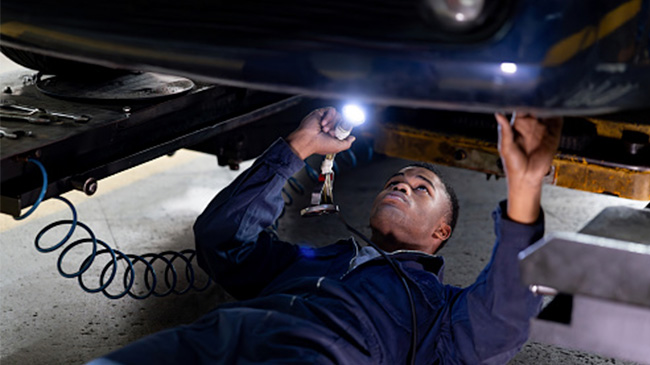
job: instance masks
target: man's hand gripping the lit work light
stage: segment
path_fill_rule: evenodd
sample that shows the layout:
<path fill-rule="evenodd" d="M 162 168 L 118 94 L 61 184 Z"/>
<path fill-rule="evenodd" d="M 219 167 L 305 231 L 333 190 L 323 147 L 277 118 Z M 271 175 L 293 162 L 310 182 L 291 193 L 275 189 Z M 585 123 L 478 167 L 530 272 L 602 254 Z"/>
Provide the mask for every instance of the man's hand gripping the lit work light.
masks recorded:
<path fill-rule="evenodd" d="M 300 159 L 304 160 L 314 153 L 326 155 L 345 151 L 354 142 L 354 136 L 344 140 L 335 137 L 336 125 L 341 122 L 341 114 L 332 107 L 316 109 L 309 113 L 300 126 L 287 137 L 289 146 Z"/>

